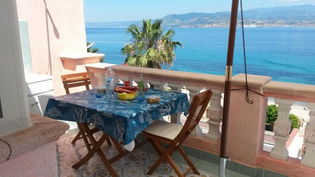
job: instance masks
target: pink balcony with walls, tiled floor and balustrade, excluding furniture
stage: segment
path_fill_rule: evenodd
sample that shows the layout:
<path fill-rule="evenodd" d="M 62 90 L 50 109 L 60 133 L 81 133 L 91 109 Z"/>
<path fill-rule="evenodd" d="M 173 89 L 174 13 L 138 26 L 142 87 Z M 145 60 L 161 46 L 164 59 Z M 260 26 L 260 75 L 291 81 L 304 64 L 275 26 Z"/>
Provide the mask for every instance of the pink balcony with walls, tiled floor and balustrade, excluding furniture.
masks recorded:
<path fill-rule="evenodd" d="M 5 59 L 0 60 L 0 73 L 1 83 L 5 84 L 1 84 L 0 93 L 0 176 L 109 176 L 98 156 L 92 157 L 78 170 L 72 168 L 87 153 L 82 139 L 76 145 L 70 144 L 78 129 L 69 130 L 66 123 L 29 114 L 26 105 L 35 106 L 38 102 L 27 102 L 23 72 L 24 68 L 50 73 L 53 79 L 50 78 L 49 87 L 53 85 L 54 95 L 59 96 L 65 94 L 61 74 L 88 71 L 94 88 L 104 85 L 109 66 L 115 71 L 115 83 L 128 79 L 136 85 L 139 74 L 143 74 L 144 82 L 150 82 L 154 88 L 163 89 L 168 83 L 172 91 L 187 93 L 190 100 L 205 89 L 213 91 L 204 118 L 183 143 L 182 149 L 201 171 L 201 176 L 218 176 L 224 76 L 94 63 L 103 54 L 86 53 L 82 1 L 7 0 L 1 4 L 3 6 L 0 7 L 4 8 L 0 11 L 4 14 L 0 19 L 4 24 L 1 54 Z M 38 76 L 37 73 L 34 73 L 35 76 Z M 227 163 L 227 177 L 315 176 L 315 85 L 271 79 L 248 75 L 249 87 L 265 95 L 250 92 L 253 105 L 245 101 L 244 91 L 231 93 L 227 154 L 232 162 Z M 232 88 L 243 88 L 244 85 L 244 74 L 232 77 Z M 78 92 L 80 89 L 71 91 Z M 274 98 L 279 114 L 273 132 L 266 135 L 268 97 Z M 291 132 L 290 129 L 289 113 L 295 101 L 306 105 L 304 108 L 309 122 L 303 130 L 305 133 L 299 133 L 297 129 Z M 182 114 L 173 114 L 161 118 L 161 121 L 183 124 L 186 118 Z M 101 133 L 97 132 L 95 138 L 99 139 Z M 145 138 L 140 135 L 137 139 L 141 141 Z M 302 146 L 300 140 L 306 146 L 301 159 L 296 149 Z M 267 146 L 267 141 L 272 145 Z M 117 153 L 117 149 L 107 144 L 101 149 L 108 157 Z M 188 168 L 178 152 L 171 158 L 182 172 Z M 121 176 L 146 176 L 148 167 L 156 159 L 157 152 L 148 144 L 121 158 L 113 166 Z M 193 175 L 189 173 L 188 176 Z M 165 163 L 152 176 L 176 175 Z"/>

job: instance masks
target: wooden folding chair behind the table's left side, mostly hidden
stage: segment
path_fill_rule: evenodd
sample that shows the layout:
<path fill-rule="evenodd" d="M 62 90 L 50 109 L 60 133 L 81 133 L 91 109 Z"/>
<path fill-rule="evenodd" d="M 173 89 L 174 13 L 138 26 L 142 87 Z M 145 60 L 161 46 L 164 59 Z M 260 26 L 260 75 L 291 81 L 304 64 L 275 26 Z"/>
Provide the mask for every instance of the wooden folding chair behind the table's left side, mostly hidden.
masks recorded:
<path fill-rule="evenodd" d="M 66 75 L 61 75 L 63 87 L 66 90 L 66 94 L 70 94 L 69 88 L 73 87 L 79 87 L 79 86 L 85 86 L 86 90 L 89 90 L 89 85 L 91 84 L 89 74 L 88 72 L 81 72 L 81 73 L 74 73 L 74 74 L 66 74 Z M 91 129 L 92 133 L 96 133 L 100 131 L 99 128 L 95 127 Z M 82 132 L 79 131 L 79 133 L 74 137 L 74 139 L 71 141 L 72 144 L 75 144 L 78 139 L 83 138 Z M 108 145 L 112 145 L 111 141 L 109 138 L 106 139 Z"/>

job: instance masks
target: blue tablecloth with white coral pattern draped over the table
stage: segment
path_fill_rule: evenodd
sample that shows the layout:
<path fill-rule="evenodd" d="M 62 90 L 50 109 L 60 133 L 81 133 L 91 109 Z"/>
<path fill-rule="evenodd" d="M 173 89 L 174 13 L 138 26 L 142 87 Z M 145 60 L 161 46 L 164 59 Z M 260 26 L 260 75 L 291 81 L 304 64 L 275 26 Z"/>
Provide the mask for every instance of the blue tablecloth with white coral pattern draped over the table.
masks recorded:
<path fill-rule="evenodd" d="M 102 131 L 125 145 L 132 142 L 150 123 L 162 116 L 187 112 L 187 94 L 148 89 L 146 95 L 158 94 L 160 103 L 148 104 L 119 100 L 114 96 L 96 99 L 95 90 L 50 98 L 44 116 L 74 122 L 95 122 Z"/>

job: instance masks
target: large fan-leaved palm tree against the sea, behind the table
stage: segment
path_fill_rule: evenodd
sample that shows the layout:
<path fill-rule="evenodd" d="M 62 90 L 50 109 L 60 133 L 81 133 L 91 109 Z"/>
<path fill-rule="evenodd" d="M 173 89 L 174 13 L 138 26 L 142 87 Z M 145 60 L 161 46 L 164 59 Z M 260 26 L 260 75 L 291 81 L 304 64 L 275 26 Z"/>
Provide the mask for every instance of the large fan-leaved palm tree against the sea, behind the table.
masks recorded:
<path fill-rule="evenodd" d="M 126 31 L 131 35 L 129 44 L 120 49 L 123 56 L 126 56 L 125 63 L 129 66 L 140 66 L 147 68 L 162 69 L 162 66 L 170 67 L 176 59 L 174 53 L 177 46 L 182 44 L 173 41 L 174 30 L 168 30 L 163 34 L 161 27 L 162 20 L 143 20 L 141 28 L 132 24 Z"/>

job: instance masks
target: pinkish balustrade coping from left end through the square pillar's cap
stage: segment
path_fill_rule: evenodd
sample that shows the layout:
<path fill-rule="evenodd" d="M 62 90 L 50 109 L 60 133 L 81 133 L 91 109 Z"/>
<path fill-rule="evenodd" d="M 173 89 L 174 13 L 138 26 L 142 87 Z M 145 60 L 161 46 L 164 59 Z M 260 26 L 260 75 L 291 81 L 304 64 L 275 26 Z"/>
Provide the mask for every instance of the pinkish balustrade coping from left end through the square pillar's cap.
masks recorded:
<path fill-rule="evenodd" d="M 93 63 L 85 65 L 88 72 L 92 73 L 103 73 L 105 74 L 109 64 L 106 63 Z M 139 74 L 143 74 L 143 78 L 146 80 L 154 80 L 160 82 L 169 82 L 175 84 L 186 84 L 186 85 L 198 85 L 199 87 L 210 87 L 212 89 L 223 89 L 225 83 L 225 76 L 202 74 L 184 71 L 172 71 L 172 70 L 161 70 L 153 68 L 144 68 L 136 66 L 112 66 L 115 71 L 115 75 L 138 78 Z M 258 75 L 247 75 L 248 84 L 250 87 L 261 88 L 265 83 L 270 81 L 269 76 L 258 76 Z M 90 76 L 91 77 L 91 76 Z M 232 86 L 242 87 L 245 86 L 245 75 L 238 74 L 232 77 Z"/>

